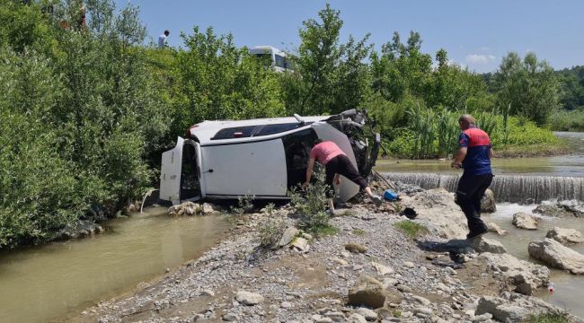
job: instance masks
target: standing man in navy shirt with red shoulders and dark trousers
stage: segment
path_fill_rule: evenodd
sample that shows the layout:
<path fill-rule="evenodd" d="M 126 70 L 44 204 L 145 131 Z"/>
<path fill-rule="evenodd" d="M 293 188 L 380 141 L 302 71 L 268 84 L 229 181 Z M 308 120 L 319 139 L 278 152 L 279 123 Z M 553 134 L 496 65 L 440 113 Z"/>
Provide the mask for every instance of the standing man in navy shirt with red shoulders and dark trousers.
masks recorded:
<path fill-rule="evenodd" d="M 458 119 L 463 132 L 459 137 L 460 148 L 452 162 L 452 167 L 465 170 L 456 188 L 456 204 L 460 205 L 468 221 L 470 232 L 466 235 L 467 239 L 489 231 L 481 220 L 481 199 L 492 182 L 491 139 L 474 124 L 471 115 L 463 115 Z"/>

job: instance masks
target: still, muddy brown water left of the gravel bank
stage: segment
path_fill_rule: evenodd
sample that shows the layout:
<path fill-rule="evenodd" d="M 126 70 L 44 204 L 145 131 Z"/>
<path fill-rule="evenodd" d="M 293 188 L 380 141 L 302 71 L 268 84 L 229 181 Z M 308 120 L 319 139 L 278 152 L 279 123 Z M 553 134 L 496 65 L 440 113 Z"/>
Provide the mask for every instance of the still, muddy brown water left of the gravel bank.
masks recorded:
<path fill-rule="evenodd" d="M 0 254 L 0 322 L 63 320 L 199 257 L 228 229 L 220 215 L 171 218 L 162 207 L 108 225 L 93 238 Z"/>

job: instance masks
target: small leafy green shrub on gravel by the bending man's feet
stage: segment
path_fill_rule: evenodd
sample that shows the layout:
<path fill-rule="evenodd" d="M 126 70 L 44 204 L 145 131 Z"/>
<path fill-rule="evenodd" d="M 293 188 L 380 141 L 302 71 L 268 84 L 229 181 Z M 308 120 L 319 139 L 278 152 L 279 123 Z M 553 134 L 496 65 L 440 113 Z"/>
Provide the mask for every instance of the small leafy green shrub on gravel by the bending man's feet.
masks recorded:
<path fill-rule="evenodd" d="M 327 190 L 330 188 L 325 183 L 325 174 L 322 168 L 314 170 L 314 183 L 310 184 L 306 191 L 294 189 L 290 192 L 292 205 L 296 214 L 300 216 L 300 226 L 310 231 L 317 227 L 327 227 L 329 214 L 326 214 L 328 206 Z"/>

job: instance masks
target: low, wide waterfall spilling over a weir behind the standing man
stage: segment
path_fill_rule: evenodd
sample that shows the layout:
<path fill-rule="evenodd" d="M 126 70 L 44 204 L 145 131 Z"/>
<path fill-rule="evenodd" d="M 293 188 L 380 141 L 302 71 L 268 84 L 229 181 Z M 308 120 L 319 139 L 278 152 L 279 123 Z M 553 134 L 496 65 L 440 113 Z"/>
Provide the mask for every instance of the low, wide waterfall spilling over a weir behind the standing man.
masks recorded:
<path fill-rule="evenodd" d="M 417 185 L 420 188 L 445 188 L 456 191 L 460 175 L 434 173 L 385 173 L 387 179 Z M 545 200 L 584 201 L 584 178 L 495 175 L 491 189 L 498 202 L 540 203 Z"/>

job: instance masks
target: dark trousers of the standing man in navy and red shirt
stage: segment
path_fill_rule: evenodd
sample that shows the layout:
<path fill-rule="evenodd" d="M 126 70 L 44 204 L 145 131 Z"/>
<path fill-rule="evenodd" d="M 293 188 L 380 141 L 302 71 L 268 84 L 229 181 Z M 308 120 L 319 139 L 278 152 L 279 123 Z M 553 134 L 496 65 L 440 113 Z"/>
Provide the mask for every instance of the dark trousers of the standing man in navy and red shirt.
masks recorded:
<path fill-rule="evenodd" d="M 481 199 L 492 182 L 492 174 L 469 175 L 466 172 L 458 181 L 456 188 L 456 204 L 460 205 L 468 221 L 471 235 L 487 230 L 481 220 Z"/>

